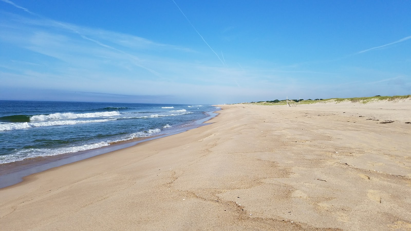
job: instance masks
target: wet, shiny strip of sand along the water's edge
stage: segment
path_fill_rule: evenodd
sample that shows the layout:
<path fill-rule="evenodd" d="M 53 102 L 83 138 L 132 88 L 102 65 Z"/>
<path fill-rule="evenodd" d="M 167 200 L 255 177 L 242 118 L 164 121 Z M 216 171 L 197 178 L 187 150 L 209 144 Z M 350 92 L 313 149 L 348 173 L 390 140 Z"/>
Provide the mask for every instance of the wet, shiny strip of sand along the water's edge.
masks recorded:
<path fill-rule="evenodd" d="M 205 112 L 205 115 L 208 115 L 208 116 L 203 119 L 194 121 L 193 125 L 188 126 L 188 127 L 184 127 L 184 126 L 179 127 L 178 129 L 175 129 L 173 132 L 166 133 L 166 134 L 160 134 L 160 135 L 148 136 L 148 137 L 137 137 L 135 139 L 131 139 L 127 141 L 113 143 L 113 144 L 110 144 L 109 146 L 93 148 L 93 149 L 79 151 L 79 152 L 64 153 L 64 154 L 53 155 L 53 156 L 40 156 L 40 157 L 34 157 L 34 158 L 27 158 L 21 161 L 0 164 L 0 167 L 2 167 L 0 169 L 0 189 L 23 183 L 25 177 L 28 177 L 36 173 L 41 173 L 49 169 L 57 168 L 57 167 L 60 167 L 66 164 L 72 164 L 72 163 L 79 162 L 85 159 L 90 159 L 95 156 L 108 154 L 116 150 L 133 147 L 145 141 L 151 141 L 151 140 L 160 139 L 166 136 L 172 136 L 175 134 L 186 132 L 191 129 L 196 129 L 201 126 L 208 125 L 210 123 L 206 123 L 206 122 L 218 116 L 219 113 L 216 113 L 216 112 L 220 110 L 222 109 L 220 108 L 220 109 L 216 109 L 215 111 Z"/>

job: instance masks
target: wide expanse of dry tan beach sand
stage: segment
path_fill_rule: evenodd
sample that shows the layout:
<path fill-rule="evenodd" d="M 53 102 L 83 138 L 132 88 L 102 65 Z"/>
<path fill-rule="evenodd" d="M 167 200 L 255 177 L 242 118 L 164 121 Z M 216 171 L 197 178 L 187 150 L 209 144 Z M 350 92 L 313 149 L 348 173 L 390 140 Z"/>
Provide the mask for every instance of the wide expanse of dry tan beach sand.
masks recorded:
<path fill-rule="evenodd" d="M 411 101 L 211 122 L 0 189 L 0 229 L 411 230 Z"/>

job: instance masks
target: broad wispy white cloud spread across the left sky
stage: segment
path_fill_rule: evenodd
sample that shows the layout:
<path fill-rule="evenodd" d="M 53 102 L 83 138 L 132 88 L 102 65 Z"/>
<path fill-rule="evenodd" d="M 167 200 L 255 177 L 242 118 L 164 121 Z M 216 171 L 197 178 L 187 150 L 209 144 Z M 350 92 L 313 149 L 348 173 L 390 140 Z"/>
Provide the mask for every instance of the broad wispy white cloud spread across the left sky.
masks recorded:
<path fill-rule="evenodd" d="M 245 79 L 246 74 L 238 73 L 236 69 L 217 68 L 206 63 L 193 62 L 192 57 L 201 55 L 199 53 L 182 53 L 180 49 L 168 48 L 166 44 L 157 46 L 153 45 L 154 42 L 150 43 L 149 40 L 134 39 L 131 35 L 120 34 L 122 42 L 125 44 L 133 41 L 141 41 L 142 43 L 141 46 L 128 47 L 128 52 L 124 53 L 117 49 L 120 43 L 116 41 L 119 36 L 118 33 L 93 30 L 76 25 L 72 25 L 72 27 L 75 27 L 75 30 L 81 31 L 89 38 L 97 38 L 95 40 L 98 41 L 109 41 L 106 39 L 106 37 L 109 37 L 109 44 L 114 49 L 76 36 L 67 27 L 60 26 L 60 24 L 55 24 L 47 19 L 36 19 L 33 22 L 32 19 L 24 20 L 24 18 L 19 18 L 19 20 L 12 23 L 3 20 L 0 21 L 0 30 L 3 32 L 0 35 L 0 42 L 13 44 L 13 46 L 25 48 L 53 59 L 46 58 L 44 60 L 40 57 L 38 61 L 42 65 L 31 65 L 29 62 L 35 60 L 21 57 L 22 59 L 18 60 L 20 62 L 15 62 L 15 59 L 13 62 L 2 61 L 0 67 L 25 76 L 25 81 L 21 82 L 23 85 L 25 83 L 26 85 L 32 85 L 33 82 L 36 82 L 35 84 L 38 87 L 53 88 L 53 84 L 58 83 L 64 87 L 74 88 L 79 82 L 83 83 L 87 80 L 87 84 L 84 84 L 86 89 L 82 90 L 93 88 L 92 81 L 95 81 L 102 89 L 116 89 L 117 93 L 121 93 L 122 90 L 127 94 L 132 94 L 136 85 L 144 86 L 146 79 L 155 80 L 157 83 L 163 81 L 167 83 L 166 85 L 171 85 L 171 83 L 180 85 L 180 87 L 171 88 L 162 84 L 158 84 L 157 87 L 150 84 L 144 88 L 139 88 L 139 92 L 145 92 L 146 94 L 149 92 L 160 94 L 163 91 L 170 94 L 187 92 L 187 90 L 182 91 L 183 83 L 195 84 L 190 85 L 190 89 L 198 89 L 198 86 L 202 85 L 203 88 L 208 88 L 207 91 L 209 92 L 212 90 L 211 86 L 216 84 L 227 88 L 232 85 L 238 86 L 232 81 L 234 77 L 247 81 Z M 129 39 L 129 41 L 125 41 L 125 39 Z M 164 55 L 153 55 L 152 51 L 159 48 L 171 49 L 169 51 L 171 51 L 170 56 L 172 58 L 166 58 Z M 140 53 L 140 51 L 145 52 Z M 133 58 L 133 56 L 137 57 L 134 54 L 138 55 L 138 59 Z M 29 57 L 32 55 L 29 54 Z M 181 55 L 183 59 L 177 58 Z M 186 55 L 189 55 L 190 61 L 186 60 Z M 159 75 L 136 69 L 135 67 L 139 67 L 139 65 L 155 70 Z M 113 78 L 121 79 L 121 81 L 113 82 Z M 32 80 L 30 81 L 30 79 Z M 9 80 L 10 84 L 16 82 L 15 78 Z M 90 90 L 98 91 L 98 89 Z M 206 91 L 203 93 L 207 94 Z"/>

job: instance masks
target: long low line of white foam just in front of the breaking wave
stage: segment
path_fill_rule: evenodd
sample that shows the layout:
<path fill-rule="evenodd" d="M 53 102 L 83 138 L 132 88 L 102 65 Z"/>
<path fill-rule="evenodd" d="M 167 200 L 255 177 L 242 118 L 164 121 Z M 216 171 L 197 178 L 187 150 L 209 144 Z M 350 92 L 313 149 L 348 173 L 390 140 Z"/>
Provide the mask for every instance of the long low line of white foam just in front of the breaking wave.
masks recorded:
<path fill-rule="evenodd" d="M 48 121 L 48 122 L 24 122 L 24 123 L 5 123 L 0 124 L 0 131 L 10 131 L 16 129 L 28 129 L 32 127 L 44 127 L 44 126 L 56 126 L 56 125 L 73 125 L 79 123 L 91 123 L 91 122 L 106 122 L 116 119 L 105 120 L 60 120 L 60 121 Z"/>

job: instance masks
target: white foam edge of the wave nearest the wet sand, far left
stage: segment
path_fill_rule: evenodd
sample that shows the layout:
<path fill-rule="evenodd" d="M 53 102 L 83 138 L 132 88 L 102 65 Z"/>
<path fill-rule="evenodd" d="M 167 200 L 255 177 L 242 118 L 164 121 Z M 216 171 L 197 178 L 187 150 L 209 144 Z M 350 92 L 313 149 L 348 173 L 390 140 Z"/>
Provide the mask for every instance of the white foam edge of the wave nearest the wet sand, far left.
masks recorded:
<path fill-rule="evenodd" d="M 56 149 L 30 148 L 30 149 L 25 149 L 25 150 L 16 152 L 13 155 L 0 156 L 0 164 L 6 164 L 6 163 L 20 161 L 23 159 L 33 158 L 33 157 L 55 156 L 55 155 L 60 155 L 60 154 L 65 154 L 65 153 L 85 151 L 85 150 L 101 148 L 101 147 L 109 146 L 109 145 L 110 145 L 109 143 L 102 141 L 99 143 L 85 144 L 85 145 L 74 146 L 74 147 L 56 148 Z"/>

